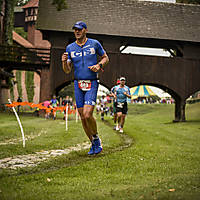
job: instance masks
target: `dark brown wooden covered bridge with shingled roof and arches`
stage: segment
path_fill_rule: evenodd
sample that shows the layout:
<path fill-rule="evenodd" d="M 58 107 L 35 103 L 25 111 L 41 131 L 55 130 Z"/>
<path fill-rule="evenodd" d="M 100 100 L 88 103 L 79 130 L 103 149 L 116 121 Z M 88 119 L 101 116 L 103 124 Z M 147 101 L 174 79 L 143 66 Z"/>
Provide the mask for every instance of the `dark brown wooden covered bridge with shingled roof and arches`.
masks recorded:
<path fill-rule="evenodd" d="M 200 6 L 136 0 L 73 0 L 57 11 L 49 0 L 39 2 L 37 28 L 51 43 L 50 67 L 41 70 L 41 96 L 46 100 L 73 81 L 64 74 L 61 55 L 74 41 L 72 25 L 85 21 L 88 37 L 99 40 L 110 63 L 99 74 L 111 88 L 123 75 L 127 85 L 148 84 L 175 99 L 175 121 L 185 121 L 186 99 L 200 90 Z M 122 54 L 120 47 L 162 48 L 171 57 Z"/>

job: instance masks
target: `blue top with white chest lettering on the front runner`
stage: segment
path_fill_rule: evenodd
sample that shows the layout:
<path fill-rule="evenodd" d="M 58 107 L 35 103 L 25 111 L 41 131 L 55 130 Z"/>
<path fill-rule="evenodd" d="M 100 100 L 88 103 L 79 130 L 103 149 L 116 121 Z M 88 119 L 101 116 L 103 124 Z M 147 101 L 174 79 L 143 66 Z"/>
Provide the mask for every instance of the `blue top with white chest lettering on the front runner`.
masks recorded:
<path fill-rule="evenodd" d="M 97 72 L 93 72 L 88 68 L 97 64 L 97 54 L 99 56 L 105 54 L 103 47 L 97 40 L 88 38 L 83 46 L 73 42 L 67 46 L 66 52 L 68 53 L 68 59 L 74 64 L 74 79 L 97 79 Z"/>

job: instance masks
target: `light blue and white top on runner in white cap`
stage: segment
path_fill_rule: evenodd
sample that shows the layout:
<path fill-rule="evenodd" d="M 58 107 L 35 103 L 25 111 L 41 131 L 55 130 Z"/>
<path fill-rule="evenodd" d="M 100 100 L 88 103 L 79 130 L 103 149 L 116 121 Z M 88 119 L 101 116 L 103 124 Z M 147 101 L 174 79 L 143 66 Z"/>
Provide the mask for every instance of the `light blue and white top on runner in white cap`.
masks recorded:
<path fill-rule="evenodd" d="M 128 86 L 125 85 L 123 88 L 121 88 L 120 85 L 115 86 L 114 94 L 117 96 L 117 102 L 127 102 L 127 96 L 124 94 L 124 92 L 131 95 L 130 88 Z"/>

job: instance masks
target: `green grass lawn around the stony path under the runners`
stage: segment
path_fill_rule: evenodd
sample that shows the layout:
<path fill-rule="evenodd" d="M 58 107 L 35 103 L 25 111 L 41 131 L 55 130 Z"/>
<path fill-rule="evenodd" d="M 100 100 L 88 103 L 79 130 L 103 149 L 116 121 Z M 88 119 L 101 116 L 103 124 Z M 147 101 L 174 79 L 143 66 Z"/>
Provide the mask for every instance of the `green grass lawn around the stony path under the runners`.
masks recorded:
<path fill-rule="evenodd" d="M 0 113 L 0 159 L 87 142 L 81 122 L 20 115 L 26 147 L 13 114 Z M 36 167 L 0 169 L 0 199 L 200 199 L 200 104 L 173 123 L 174 105 L 129 105 L 124 134 L 107 116 L 98 122 L 103 152 L 73 151 Z M 13 143 L 11 143 L 13 141 Z M 6 145 L 3 143 L 7 143 Z"/>

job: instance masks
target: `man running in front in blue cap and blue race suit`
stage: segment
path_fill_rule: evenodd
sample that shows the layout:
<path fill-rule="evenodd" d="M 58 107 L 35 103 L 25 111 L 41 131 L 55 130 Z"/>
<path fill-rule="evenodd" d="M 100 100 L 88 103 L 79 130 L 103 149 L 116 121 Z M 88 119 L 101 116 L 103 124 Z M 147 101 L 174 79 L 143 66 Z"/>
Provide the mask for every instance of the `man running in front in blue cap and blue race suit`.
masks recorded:
<path fill-rule="evenodd" d="M 70 73 L 72 64 L 74 66 L 76 105 L 83 129 L 92 144 L 88 154 L 93 155 L 102 151 L 96 120 L 93 117 L 99 85 L 97 72 L 103 70 L 109 58 L 97 40 L 86 37 L 88 30 L 84 22 L 76 22 L 72 29 L 74 29 L 76 41 L 69 44 L 66 53 L 62 55 L 62 67 L 66 73 Z M 97 62 L 97 55 L 100 56 L 99 62 Z"/>

